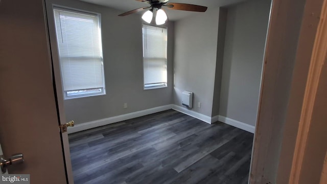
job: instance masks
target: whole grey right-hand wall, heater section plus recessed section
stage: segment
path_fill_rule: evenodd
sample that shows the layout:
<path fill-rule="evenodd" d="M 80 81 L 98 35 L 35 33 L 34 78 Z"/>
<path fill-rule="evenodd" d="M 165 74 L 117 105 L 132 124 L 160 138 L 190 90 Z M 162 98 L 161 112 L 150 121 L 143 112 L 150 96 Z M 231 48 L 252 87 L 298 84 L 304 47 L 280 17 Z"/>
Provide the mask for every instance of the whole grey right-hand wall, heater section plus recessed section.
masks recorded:
<path fill-rule="evenodd" d="M 189 90 L 190 110 L 254 126 L 269 12 L 270 0 L 255 0 L 176 21 L 174 104 Z"/>

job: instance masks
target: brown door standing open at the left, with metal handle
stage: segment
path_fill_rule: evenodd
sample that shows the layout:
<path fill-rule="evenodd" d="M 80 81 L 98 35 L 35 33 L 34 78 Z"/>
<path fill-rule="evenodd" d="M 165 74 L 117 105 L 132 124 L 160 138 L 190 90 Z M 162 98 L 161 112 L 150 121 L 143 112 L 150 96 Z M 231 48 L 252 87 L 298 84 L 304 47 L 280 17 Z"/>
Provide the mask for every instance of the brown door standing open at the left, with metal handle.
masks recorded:
<path fill-rule="evenodd" d="M 66 183 L 45 20 L 42 0 L 0 2 L 0 143 L 6 156 L 24 154 L 9 173 Z"/>

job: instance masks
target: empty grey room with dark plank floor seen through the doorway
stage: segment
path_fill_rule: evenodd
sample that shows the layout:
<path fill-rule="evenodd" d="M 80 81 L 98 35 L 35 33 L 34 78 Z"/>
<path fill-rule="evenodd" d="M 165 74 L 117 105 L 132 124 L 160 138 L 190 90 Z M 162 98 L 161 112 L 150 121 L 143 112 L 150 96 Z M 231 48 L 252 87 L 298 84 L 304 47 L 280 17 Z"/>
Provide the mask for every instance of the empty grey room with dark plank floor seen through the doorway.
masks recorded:
<path fill-rule="evenodd" d="M 75 183 L 248 182 L 270 0 L 45 3 Z"/>

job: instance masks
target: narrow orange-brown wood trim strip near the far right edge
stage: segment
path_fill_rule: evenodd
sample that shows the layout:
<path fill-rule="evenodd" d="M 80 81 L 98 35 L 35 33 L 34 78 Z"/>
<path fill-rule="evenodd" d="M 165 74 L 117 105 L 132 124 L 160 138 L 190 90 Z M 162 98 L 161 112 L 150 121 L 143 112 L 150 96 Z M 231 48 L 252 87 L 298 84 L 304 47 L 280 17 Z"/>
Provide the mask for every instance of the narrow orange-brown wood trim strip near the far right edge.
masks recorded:
<path fill-rule="evenodd" d="M 305 97 L 301 109 L 301 117 L 299 121 L 299 128 L 296 137 L 296 145 L 293 156 L 293 163 L 289 183 L 299 183 L 302 160 L 304 157 L 308 132 L 311 125 L 311 116 L 315 104 L 315 97 L 319 84 L 319 77 L 322 70 L 322 65 L 326 60 L 327 54 L 327 0 L 324 0 L 322 11 L 320 15 L 320 22 L 317 29 L 313 53 L 310 62 L 309 74 L 305 90 Z M 324 165 L 327 163 L 325 162 Z M 324 166 L 326 168 L 326 166 Z M 324 180 L 323 183 L 326 183 Z"/>

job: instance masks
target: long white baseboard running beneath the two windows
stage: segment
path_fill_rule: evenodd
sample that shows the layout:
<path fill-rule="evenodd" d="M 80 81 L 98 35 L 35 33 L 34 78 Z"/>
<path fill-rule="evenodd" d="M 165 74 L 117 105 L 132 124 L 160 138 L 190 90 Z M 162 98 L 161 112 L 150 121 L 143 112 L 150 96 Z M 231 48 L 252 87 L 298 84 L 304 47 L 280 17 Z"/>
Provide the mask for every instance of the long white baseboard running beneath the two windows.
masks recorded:
<path fill-rule="evenodd" d="M 74 127 L 69 127 L 67 132 L 75 133 L 75 132 L 87 130 L 90 128 L 96 128 L 96 127 L 108 125 L 111 123 L 116 123 L 116 122 L 129 120 L 132 118 L 142 117 L 142 116 L 145 116 L 148 114 L 152 114 L 152 113 L 156 113 L 156 112 L 160 112 L 160 111 L 164 111 L 164 110 L 168 110 L 168 109 L 172 109 L 172 104 L 154 107 L 154 108 L 145 109 L 145 110 L 140 110 L 140 111 L 131 112 L 131 113 L 127 113 L 127 114 L 122 114 L 120 116 L 105 118 L 105 119 L 91 121 L 91 122 L 87 122 L 87 123 L 77 124 Z"/>

